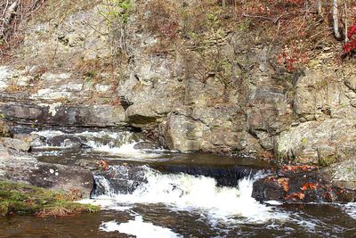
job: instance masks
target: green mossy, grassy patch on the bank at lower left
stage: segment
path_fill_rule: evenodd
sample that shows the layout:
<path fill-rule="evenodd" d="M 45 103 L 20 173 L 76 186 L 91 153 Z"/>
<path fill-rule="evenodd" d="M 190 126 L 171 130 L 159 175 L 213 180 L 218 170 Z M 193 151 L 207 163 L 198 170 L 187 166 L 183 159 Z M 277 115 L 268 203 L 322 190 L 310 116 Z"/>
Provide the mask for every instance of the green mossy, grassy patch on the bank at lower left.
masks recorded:
<path fill-rule="evenodd" d="M 76 200 L 76 191 L 58 193 L 36 186 L 0 181 L 0 216 L 33 214 L 65 217 L 99 210 L 99 207 L 76 203 Z"/>

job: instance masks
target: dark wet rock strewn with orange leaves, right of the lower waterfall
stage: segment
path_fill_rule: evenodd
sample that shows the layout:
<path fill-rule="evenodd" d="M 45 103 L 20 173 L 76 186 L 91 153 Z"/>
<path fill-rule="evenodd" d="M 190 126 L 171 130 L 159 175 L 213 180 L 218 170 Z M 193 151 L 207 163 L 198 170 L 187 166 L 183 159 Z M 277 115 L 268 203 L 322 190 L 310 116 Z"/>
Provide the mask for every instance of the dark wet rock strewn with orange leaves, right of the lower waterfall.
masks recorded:
<path fill-rule="evenodd" d="M 252 196 L 258 201 L 348 202 L 356 201 L 356 187 L 340 187 L 332 183 L 324 172 L 316 170 L 281 169 L 278 174 L 258 179 L 254 183 Z"/>

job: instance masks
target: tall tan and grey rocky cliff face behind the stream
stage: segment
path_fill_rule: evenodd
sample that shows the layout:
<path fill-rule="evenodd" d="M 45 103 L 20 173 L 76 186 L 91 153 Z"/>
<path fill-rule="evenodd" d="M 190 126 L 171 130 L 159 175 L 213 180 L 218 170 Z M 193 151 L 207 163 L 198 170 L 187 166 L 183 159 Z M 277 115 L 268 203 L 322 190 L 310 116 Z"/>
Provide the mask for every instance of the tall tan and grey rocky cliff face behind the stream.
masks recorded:
<path fill-rule="evenodd" d="M 356 74 L 329 60 L 328 45 L 290 73 L 275 61 L 279 45 L 256 30 L 226 16 L 190 34 L 194 1 L 156 2 L 134 1 L 125 22 L 103 4 L 51 21 L 46 8 L 37 13 L 0 66 L 1 113 L 29 124 L 140 128 L 182 152 L 321 165 L 354 157 Z"/>

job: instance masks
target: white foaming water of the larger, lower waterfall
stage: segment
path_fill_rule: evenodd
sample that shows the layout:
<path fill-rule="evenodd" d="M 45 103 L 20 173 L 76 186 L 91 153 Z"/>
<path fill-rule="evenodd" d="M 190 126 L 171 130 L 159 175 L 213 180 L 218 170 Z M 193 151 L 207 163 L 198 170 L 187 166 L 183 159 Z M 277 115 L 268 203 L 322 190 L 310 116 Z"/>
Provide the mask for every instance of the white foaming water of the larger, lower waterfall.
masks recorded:
<path fill-rule="evenodd" d="M 113 193 L 103 176 L 97 183 L 105 187 L 106 195 L 95 200 L 83 201 L 104 205 L 104 209 L 120 208 L 117 204 L 166 204 L 173 210 L 196 212 L 210 223 L 264 223 L 269 220 L 285 220 L 271 206 L 266 206 L 251 197 L 254 178 L 244 178 L 238 187 L 219 187 L 214 178 L 186 174 L 162 174 L 143 167 L 147 183 L 139 185 L 134 193 Z"/>

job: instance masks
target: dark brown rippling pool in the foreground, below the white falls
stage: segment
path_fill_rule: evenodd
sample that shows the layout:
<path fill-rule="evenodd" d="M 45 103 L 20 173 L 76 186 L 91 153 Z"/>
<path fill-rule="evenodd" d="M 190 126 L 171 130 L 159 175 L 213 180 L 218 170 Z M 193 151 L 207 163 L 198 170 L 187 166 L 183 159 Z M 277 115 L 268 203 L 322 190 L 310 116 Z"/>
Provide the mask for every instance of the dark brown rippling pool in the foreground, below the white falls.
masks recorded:
<path fill-rule="evenodd" d="M 197 212 L 174 211 L 164 205 L 136 205 L 127 211 L 103 210 L 76 217 L 10 216 L 0 218 L 0 237 L 133 237 L 100 230 L 102 222 L 125 223 L 134 219 L 133 214 L 182 237 L 355 237 L 356 220 L 337 206 L 289 204 L 278 209 L 290 214 L 286 222 L 229 226 L 212 225 Z"/>

